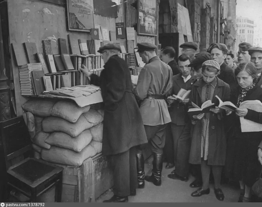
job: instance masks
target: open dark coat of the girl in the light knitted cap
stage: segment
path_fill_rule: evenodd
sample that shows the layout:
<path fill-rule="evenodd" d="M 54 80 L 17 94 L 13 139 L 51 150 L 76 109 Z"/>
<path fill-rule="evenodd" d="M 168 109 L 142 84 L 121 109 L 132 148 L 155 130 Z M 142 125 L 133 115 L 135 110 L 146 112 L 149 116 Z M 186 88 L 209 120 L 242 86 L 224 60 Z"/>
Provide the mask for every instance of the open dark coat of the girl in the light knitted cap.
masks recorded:
<path fill-rule="evenodd" d="M 217 77 L 216 77 L 217 78 Z M 192 86 L 191 101 L 197 106 L 201 107 L 201 93 L 202 88 L 200 87 L 200 79 Z M 229 101 L 230 99 L 230 87 L 228 84 L 217 78 L 216 88 L 212 103 L 216 106 L 219 105 L 218 97 L 222 101 Z M 191 105 L 191 104 L 189 104 Z M 189 106 L 190 107 L 190 106 Z M 192 108 L 192 105 L 191 105 Z M 225 111 L 221 110 L 220 113 L 215 114 L 210 112 L 210 123 L 209 123 L 209 146 L 208 146 L 208 165 L 225 165 L 226 157 L 226 137 L 224 132 L 223 118 L 225 117 Z M 202 132 L 202 120 L 198 120 L 193 125 L 192 143 L 190 149 L 189 162 L 191 164 L 201 164 L 201 132 Z"/>

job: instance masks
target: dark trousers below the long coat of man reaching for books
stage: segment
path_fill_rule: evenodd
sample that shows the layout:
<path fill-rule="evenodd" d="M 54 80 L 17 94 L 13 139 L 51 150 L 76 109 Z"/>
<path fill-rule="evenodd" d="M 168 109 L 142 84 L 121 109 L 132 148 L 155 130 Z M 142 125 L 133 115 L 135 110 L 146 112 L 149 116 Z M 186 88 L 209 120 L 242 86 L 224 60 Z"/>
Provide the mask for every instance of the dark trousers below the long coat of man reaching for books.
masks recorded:
<path fill-rule="evenodd" d="M 120 154 L 111 155 L 114 195 L 129 196 L 130 190 L 138 187 L 136 147 Z"/>

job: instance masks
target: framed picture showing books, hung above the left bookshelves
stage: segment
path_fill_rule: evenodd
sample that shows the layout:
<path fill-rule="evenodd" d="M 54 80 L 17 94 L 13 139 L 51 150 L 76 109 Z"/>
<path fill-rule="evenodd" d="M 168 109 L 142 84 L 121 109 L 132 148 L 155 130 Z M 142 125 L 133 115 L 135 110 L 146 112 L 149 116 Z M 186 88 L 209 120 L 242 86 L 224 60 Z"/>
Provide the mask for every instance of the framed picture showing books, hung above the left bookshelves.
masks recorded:
<path fill-rule="evenodd" d="M 66 0 L 69 31 L 91 32 L 94 28 L 93 0 Z"/>

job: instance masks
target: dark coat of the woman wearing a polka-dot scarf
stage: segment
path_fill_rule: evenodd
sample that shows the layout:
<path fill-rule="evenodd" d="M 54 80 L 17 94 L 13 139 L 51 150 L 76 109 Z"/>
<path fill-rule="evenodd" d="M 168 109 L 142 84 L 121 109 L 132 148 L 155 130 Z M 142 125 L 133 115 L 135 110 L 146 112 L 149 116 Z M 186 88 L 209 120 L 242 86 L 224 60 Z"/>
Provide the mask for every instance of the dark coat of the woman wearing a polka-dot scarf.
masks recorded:
<path fill-rule="evenodd" d="M 238 94 L 240 87 L 237 88 Z M 249 90 L 243 101 L 259 100 L 262 102 L 262 88 L 257 84 Z M 234 103 L 236 105 L 237 101 Z M 228 139 L 225 172 L 229 178 L 242 179 L 249 187 L 256 182 L 261 171 L 257 149 L 262 141 L 262 132 L 241 132 L 239 117 L 232 113 L 234 120 Z M 245 119 L 262 124 L 262 113 L 248 109 Z"/>

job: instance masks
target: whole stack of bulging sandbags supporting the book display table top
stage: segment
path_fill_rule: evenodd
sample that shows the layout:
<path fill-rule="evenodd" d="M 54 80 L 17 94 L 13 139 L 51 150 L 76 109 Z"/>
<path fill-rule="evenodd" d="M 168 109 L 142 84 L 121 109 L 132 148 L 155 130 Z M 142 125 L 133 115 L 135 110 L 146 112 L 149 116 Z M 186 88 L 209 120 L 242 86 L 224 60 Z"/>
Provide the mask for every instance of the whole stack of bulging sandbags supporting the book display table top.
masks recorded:
<path fill-rule="evenodd" d="M 32 99 L 22 108 L 34 114 L 33 149 L 48 162 L 80 166 L 102 151 L 103 110 L 76 103 Z M 94 110 L 96 108 L 97 110 Z"/>

